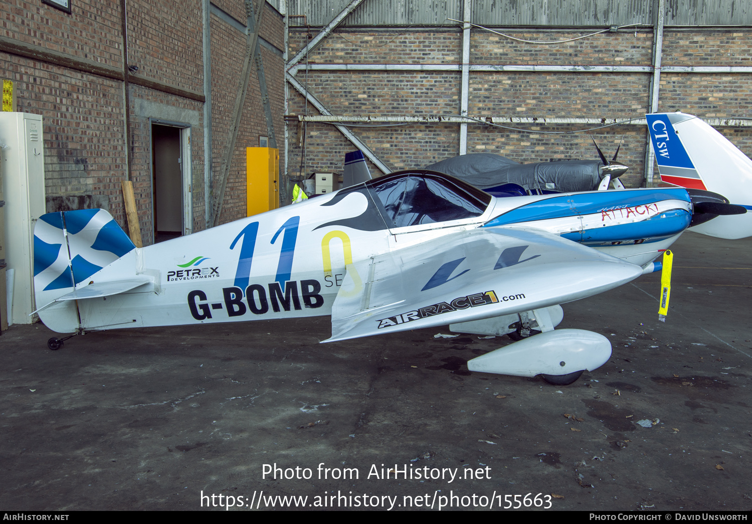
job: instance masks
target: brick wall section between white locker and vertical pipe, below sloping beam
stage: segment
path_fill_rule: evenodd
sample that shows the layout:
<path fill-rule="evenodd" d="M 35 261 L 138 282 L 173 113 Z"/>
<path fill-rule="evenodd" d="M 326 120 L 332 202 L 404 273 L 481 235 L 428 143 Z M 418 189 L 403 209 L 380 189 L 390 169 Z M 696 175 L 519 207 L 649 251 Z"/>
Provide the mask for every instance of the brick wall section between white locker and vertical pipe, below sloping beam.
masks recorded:
<path fill-rule="evenodd" d="M 47 195 L 105 195 L 124 225 L 122 83 L 8 53 L 0 75 L 14 81 L 17 111 L 43 116 Z"/>

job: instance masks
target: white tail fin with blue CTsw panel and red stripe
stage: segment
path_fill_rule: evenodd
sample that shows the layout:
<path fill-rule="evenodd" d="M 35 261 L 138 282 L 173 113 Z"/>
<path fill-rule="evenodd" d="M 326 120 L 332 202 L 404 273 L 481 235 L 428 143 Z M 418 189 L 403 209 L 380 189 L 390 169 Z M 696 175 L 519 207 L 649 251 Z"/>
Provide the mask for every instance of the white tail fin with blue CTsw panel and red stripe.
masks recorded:
<path fill-rule="evenodd" d="M 752 160 L 707 123 L 690 114 L 647 114 L 661 180 L 720 193 L 746 214 L 716 217 L 692 231 L 719 238 L 752 235 Z"/>

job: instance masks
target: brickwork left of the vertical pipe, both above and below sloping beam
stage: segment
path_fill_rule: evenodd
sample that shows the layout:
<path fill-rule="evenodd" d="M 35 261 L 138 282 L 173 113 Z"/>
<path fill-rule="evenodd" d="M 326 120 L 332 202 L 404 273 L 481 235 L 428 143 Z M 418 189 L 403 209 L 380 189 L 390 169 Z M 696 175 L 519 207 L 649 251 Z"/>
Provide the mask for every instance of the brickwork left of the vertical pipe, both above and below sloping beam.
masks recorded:
<path fill-rule="evenodd" d="M 41 2 L 0 3 L 2 36 L 122 69 L 120 5 L 74 2 L 71 14 Z M 120 194 L 126 168 L 123 87 L 118 80 L 0 52 L 17 111 L 44 119 L 47 195 Z M 122 198 L 111 209 L 124 224 Z"/>

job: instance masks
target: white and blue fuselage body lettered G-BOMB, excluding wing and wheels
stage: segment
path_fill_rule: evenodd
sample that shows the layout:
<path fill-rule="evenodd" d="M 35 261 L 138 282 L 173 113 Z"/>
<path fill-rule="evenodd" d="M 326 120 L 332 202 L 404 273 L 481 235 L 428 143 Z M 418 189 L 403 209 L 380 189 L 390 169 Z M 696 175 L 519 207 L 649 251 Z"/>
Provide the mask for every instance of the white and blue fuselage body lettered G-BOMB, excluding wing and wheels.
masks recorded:
<path fill-rule="evenodd" d="M 399 175 L 390 179 L 399 180 Z M 369 184 L 378 191 L 366 189 Z M 388 190 L 382 190 L 384 186 Z M 329 315 L 338 294 L 357 295 L 368 282 L 368 275 L 353 274 L 353 262 L 481 227 L 534 228 L 642 266 L 675 241 L 691 215 L 684 189 L 489 195 L 483 201 L 472 201 L 474 195 L 458 196 L 458 190 L 444 195 L 448 214 L 439 209 L 442 201 L 427 203 L 417 214 L 404 195 L 398 198 L 401 210 L 395 211 L 389 200 L 392 192 L 388 183 L 377 179 L 131 250 L 77 282 L 76 288 L 122 280 L 127 274 L 149 282 L 127 292 L 77 301 L 77 311 L 73 301 L 56 303 L 41 317 L 51 329 L 71 332 L 77 316 L 80 329 L 90 331 Z M 472 201 L 462 205 L 475 207 L 462 209 L 456 205 L 461 198 Z M 426 266 L 426 282 L 435 277 L 434 271 Z M 461 271 L 457 269 L 458 276 Z M 54 291 L 41 295 L 49 295 L 50 301 Z"/>

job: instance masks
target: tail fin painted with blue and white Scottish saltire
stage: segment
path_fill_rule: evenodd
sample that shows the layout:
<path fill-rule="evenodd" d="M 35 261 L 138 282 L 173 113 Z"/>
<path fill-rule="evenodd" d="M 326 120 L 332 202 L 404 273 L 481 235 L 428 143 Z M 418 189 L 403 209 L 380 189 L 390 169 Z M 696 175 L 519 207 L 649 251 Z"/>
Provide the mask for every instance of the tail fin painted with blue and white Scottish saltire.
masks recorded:
<path fill-rule="evenodd" d="M 83 298 L 77 290 L 133 249 L 128 235 L 103 209 L 39 217 L 34 227 L 34 294 L 42 322 L 53 331 L 74 332 L 80 326 L 75 300 Z"/>

